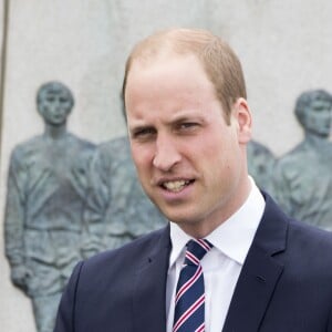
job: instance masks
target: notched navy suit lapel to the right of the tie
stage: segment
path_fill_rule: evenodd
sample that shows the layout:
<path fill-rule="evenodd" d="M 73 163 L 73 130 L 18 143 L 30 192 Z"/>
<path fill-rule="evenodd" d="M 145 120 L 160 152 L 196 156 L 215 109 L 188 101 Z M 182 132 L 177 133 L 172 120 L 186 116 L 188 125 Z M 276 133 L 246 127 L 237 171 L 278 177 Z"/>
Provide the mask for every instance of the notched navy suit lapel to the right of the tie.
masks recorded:
<path fill-rule="evenodd" d="M 222 332 L 257 332 L 283 266 L 273 257 L 286 249 L 288 222 L 269 196 L 237 282 Z"/>

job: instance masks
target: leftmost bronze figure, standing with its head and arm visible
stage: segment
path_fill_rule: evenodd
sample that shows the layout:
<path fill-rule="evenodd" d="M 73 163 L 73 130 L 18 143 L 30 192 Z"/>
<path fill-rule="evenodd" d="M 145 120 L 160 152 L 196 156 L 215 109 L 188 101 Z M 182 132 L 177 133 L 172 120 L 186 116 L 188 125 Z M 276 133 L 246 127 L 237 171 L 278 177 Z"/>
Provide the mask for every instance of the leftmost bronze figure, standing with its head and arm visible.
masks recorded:
<path fill-rule="evenodd" d="M 66 132 L 74 105 L 59 82 L 37 95 L 45 131 L 11 155 L 6 207 L 6 253 L 12 282 L 33 303 L 38 331 L 53 331 L 61 292 L 80 260 L 87 163 L 94 145 Z"/>

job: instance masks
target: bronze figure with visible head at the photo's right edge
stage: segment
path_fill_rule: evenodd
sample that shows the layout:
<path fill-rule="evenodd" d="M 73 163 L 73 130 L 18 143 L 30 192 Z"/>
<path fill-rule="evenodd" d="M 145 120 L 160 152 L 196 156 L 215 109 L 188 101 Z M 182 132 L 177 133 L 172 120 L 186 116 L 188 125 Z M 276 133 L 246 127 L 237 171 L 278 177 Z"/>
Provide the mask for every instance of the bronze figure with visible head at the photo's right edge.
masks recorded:
<path fill-rule="evenodd" d="M 302 93 L 295 116 L 304 139 L 281 157 L 273 172 L 273 196 L 291 216 L 332 230 L 332 96 L 323 90 Z"/>

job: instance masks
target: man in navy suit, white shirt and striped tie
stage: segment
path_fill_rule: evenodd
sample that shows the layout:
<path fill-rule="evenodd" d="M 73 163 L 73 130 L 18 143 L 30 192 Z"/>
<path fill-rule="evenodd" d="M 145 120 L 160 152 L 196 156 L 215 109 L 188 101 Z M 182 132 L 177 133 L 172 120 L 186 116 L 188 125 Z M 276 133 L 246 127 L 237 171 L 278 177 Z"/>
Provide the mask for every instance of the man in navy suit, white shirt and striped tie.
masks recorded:
<path fill-rule="evenodd" d="M 156 33 L 133 50 L 123 94 L 138 178 L 170 222 L 81 262 L 55 331 L 332 331 L 332 237 L 248 177 L 251 114 L 230 48 L 207 31 Z"/>

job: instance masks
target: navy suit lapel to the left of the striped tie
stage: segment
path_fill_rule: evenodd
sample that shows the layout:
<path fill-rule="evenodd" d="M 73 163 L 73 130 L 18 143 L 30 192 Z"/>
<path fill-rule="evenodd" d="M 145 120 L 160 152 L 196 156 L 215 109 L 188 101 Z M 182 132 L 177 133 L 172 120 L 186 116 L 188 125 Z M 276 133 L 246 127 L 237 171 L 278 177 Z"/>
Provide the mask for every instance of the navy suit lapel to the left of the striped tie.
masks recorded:
<path fill-rule="evenodd" d="M 151 242 L 135 278 L 134 331 L 166 332 L 166 279 L 170 251 L 169 226 Z"/>

